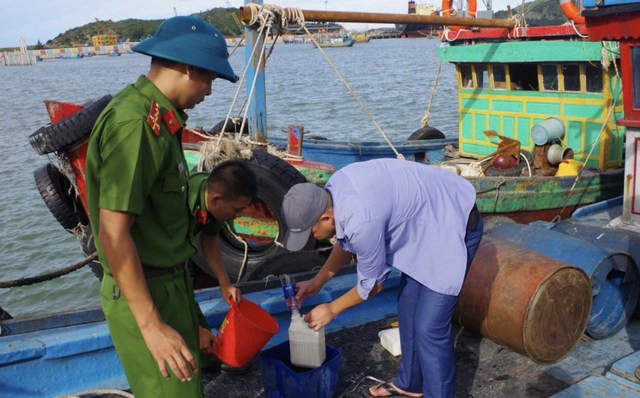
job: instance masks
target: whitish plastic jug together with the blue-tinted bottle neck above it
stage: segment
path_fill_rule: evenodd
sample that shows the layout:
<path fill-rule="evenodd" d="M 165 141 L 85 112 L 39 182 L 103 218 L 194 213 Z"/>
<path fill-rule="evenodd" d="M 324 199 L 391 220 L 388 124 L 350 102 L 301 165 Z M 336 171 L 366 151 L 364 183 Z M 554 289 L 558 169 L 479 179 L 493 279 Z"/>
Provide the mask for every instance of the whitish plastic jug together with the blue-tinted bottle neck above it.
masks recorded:
<path fill-rule="evenodd" d="M 317 368 L 327 355 L 324 328 L 315 331 L 309 327 L 300 314 L 300 305 L 296 300 L 296 288 L 293 278 L 287 274 L 280 276 L 282 291 L 291 311 L 289 325 L 289 350 L 291 363 L 305 368 Z"/>

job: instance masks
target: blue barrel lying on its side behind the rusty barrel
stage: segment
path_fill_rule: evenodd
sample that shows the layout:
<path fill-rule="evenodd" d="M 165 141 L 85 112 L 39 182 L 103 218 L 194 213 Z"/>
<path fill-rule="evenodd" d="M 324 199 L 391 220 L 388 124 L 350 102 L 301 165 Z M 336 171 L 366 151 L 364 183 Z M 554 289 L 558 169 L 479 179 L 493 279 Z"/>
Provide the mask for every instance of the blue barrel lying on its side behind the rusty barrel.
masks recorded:
<path fill-rule="evenodd" d="M 638 269 L 627 253 L 607 252 L 585 240 L 525 224 L 502 224 L 489 234 L 582 269 L 591 278 L 593 305 L 587 333 L 605 339 L 622 329 L 640 297 Z"/>

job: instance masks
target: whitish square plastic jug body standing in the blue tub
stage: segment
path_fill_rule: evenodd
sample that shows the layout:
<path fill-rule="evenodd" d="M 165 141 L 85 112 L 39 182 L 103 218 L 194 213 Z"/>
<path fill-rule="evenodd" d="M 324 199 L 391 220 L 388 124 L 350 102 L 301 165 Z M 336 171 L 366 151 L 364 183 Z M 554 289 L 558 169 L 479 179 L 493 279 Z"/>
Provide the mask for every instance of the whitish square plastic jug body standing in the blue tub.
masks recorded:
<path fill-rule="evenodd" d="M 324 328 L 316 332 L 307 325 L 298 311 L 293 311 L 289 325 L 289 350 L 293 365 L 303 368 L 321 366 L 327 356 Z"/>

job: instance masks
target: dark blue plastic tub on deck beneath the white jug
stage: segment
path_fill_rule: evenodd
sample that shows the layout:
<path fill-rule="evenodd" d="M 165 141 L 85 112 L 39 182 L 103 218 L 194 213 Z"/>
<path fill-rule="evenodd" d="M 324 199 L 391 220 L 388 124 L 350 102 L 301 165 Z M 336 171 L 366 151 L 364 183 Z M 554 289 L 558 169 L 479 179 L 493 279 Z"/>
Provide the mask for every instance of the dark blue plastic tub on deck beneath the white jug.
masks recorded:
<path fill-rule="evenodd" d="M 342 355 L 327 346 L 324 363 L 313 369 L 291 364 L 289 340 L 260 353 L 262 384 L 267 398 L 331 398 L 338 383 Z"/>

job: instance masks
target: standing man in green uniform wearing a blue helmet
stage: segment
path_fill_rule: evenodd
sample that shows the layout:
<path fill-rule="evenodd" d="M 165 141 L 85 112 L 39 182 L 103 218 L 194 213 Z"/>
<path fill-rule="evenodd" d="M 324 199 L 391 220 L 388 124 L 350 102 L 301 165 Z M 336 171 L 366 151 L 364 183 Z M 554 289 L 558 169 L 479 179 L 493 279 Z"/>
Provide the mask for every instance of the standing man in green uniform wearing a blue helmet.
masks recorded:
<path fill-rule="evenodd" d="M 197 17 L 166 20 L 133 50 L 152 57 L 150 69 L 113 97 L 87 152 L 102 309 L 137 398 L 200 397 L 199 311 L 185 272 L 197 248 L 180 139 L 184 110 L 214 79 L 237 76 L 222 34 Z"/>

